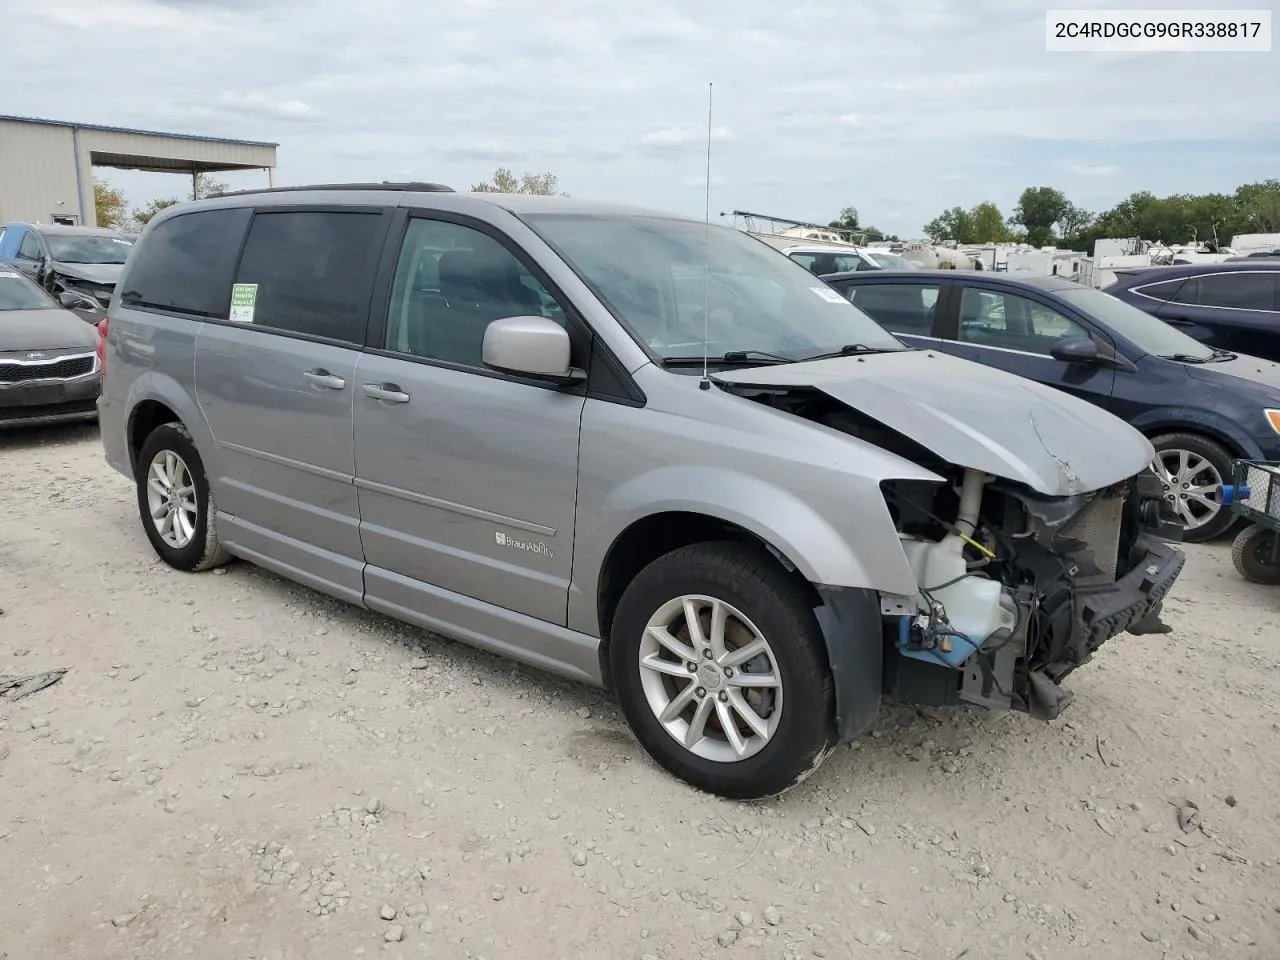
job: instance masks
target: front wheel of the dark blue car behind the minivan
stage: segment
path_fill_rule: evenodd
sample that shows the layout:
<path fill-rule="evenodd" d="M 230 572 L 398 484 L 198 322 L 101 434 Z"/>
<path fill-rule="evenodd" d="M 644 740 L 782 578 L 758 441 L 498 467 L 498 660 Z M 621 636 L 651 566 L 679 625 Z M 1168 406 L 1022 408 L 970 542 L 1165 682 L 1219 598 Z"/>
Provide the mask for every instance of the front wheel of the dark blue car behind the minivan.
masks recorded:
<path fill-rule="evenodd" d="M 1231 483 L 1230 452 L 1217 440 L 1190 433 L 1161 434 L 1152 438 L 1151 445 L 1156 448 L 1153 472 L 1165 484 L 1166 500 L 1184 520 L 1183 539 L 1207 543 L 1230 530 L 1235 515 L 1222 503 L 1222 490 L 1203 489 Z M 1194 493 L 1197 488 L 1198 494 Z M 1213 504 L 1213 509 L 1208 504 Z M 1198 522 L 1185 522 L 1188 516 Z"/>

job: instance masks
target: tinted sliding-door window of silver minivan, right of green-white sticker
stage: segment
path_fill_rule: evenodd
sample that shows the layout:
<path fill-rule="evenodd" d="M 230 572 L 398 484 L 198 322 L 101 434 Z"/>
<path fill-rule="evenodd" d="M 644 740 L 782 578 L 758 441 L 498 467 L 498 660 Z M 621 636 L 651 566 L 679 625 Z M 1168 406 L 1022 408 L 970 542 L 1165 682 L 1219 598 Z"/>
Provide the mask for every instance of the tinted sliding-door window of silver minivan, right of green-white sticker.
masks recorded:
<path fill-rule="evenodd" d="M 259 212 L 236 275 L 253 325 L 364 343 L 384 230 L 380 212 Z"/>

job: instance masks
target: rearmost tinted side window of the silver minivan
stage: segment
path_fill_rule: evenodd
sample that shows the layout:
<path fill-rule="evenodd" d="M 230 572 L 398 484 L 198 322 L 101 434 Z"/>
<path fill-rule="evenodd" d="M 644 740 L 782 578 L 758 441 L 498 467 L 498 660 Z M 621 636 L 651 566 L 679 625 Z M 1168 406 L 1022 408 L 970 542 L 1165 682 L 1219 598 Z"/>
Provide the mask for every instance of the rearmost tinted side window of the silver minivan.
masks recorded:
<path fill-rule="evenodd" d="M 225 319 L 247 209 L 200 210 L 156 224 L 133 253 L 127 306 Z"/>

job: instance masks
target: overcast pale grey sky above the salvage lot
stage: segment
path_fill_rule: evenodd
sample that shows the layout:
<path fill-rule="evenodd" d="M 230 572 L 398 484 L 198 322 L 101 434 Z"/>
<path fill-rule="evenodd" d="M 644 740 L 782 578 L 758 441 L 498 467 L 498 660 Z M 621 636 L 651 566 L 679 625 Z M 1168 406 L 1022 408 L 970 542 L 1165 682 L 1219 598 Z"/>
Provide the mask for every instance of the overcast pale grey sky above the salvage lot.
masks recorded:
<path fill-rule="evenodd" d="M 915 236 L 1027 186 L 1097 210 L 1280 174 L 1277 54 L 1047 54 L 1028 0 L 0 0 L 0 113 L 276 141 L 280 184 L 503 164 L 701 216 L 708 82 L 713 215 L 854 205 Z M 186 186 L 101 174 L 133 204 Z"/>

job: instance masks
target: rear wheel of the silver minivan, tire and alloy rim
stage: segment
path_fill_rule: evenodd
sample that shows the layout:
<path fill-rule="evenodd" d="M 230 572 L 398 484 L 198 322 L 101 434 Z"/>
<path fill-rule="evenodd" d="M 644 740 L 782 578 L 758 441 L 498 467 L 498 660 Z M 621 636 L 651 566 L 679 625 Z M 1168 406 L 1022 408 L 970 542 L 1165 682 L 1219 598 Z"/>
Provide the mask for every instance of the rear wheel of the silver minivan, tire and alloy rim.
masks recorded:
<path fill-rule="evenodd" d="M 205 463 L 186 426 L 157 426 L 138 452 L 138 515 L 160 559 L 174 570 L 210 570 L 230 559 L 218 540 L 218 507 Z"/>

